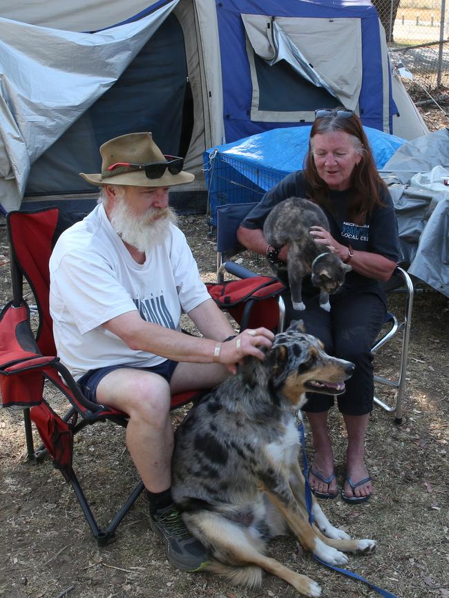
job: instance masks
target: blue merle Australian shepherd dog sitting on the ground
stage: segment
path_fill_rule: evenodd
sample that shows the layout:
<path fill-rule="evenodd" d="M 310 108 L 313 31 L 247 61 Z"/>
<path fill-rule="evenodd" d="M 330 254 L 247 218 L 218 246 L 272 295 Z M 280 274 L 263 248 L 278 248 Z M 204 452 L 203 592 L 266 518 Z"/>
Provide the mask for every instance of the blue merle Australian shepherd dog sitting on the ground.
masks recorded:
<path fill-rule="evenodd" d="M 210 551 L 208 570 L 250 587 L 265 570 L 316 597 L 318 583 L 265 556 L 267 541 L 290 532 L 337 566 L 347 563 L 344 552 L 374 550 L 373 540 L 334 528 L 315 499 L 309 523 L 299 465 L 296 414 L 305 392 L 340 394 L 353 369 L 294 322 L 264 361 L 245 358 L 238 374 L 191 408 L 176 432 L 173 499 Z"/>

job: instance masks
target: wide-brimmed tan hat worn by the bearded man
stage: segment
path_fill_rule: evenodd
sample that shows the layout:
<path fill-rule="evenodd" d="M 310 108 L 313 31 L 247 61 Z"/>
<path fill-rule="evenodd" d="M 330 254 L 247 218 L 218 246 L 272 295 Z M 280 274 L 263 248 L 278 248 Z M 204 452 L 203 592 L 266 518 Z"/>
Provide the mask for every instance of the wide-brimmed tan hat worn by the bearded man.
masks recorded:
<path fill-rule="evenodd" d="M 99 148 L 102 156 L 102 172 L 98 174 L 79 173 L 86 181 L 93 185 L 132 185 L 137 187 L 169 187 L 171 185 L 180 185 L 190 183 L 195 175 L 180 171 L 172 174 L 169 168 L 164 169 L 164 173 L 157 178 L 146 176 L 144 168 L 142 170 L 133 170 L 132 167 L 117 166 L 113 171 L 108 168 L 114 164 L 142 164 L 151 165 L 157 163 L 169 162 L 170 157 L 166 158 L 164 154 L 153 142 L 151 133 L 129 133 L 120 135 L 110 141 L 107 141 Z M 150 166 L 151 168 L 151 166 Z"/>

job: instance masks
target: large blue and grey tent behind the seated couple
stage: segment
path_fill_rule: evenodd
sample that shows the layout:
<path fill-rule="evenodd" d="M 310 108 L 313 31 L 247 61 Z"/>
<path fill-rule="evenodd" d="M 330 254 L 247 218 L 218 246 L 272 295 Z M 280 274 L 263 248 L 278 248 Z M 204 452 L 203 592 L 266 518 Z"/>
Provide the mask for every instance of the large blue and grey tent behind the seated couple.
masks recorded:
<path fill-rule="evenodd" d="M 0 39 L 5 211 L 96 193 L 78 173 L 98 172 L 99 146 L 124 133 L 185 156 L 196 179 L 176 192 L 205 206 L 205 149 L 310 124 L 315 108 L 428 132 L 369 0 L 3 0 Z"/>

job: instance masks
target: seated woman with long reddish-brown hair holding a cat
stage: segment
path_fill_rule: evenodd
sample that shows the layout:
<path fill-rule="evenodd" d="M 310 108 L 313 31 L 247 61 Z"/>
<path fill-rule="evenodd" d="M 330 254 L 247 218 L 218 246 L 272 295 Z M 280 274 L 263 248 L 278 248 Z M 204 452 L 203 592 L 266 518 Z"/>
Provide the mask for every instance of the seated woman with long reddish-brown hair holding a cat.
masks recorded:
<path fill-rule="evenodd" d="M 332 309 L 318 305 L 317 289 L 303 284 L 305 311 L 289 308 L 289 319 L 302 319 L 307 332 L 320 338 L 326 351 L 356 364 L 338 408 L 347 429 L 346 476 L 342 498 L 369 499 L 372 482 L 365 466 L 365 431 L 373 405 L 374 378 L 370 348 L 385 317 L 379 281 L 388 280 L 399 259 L 397 221 L 390 193 L 376 171 L 361 121 L 345 108 L 316 110 L 303 171 L 287 175 L 268 191 L 243 220 L 238 240 L 251 251 L 287 261 L 287 246 L 267 245 L 262 228 L 271 208 L 287 197 L 307 197 L 329 219 L 330 233 L 313 226 L 316 243 L 351 264 L 343 287 L 331 296 Z M 309 483 L 322 498 L 338 494 L 327 414 L 332 396 L 310 393 L 305 405 L 313 434 L 314 461 Z"/>

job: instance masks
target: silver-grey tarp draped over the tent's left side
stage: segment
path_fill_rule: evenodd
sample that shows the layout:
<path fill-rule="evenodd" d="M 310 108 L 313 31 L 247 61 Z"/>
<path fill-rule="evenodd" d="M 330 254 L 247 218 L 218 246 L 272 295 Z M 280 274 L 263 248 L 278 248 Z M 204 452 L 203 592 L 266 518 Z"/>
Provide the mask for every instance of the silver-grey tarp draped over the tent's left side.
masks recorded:
<path fill-rule="evenodd" d="M 113 85 L 178 1 L 139 21 L 94 34 L 0 18 L 4 209 L 20 206 L 30 164 Z"/>

